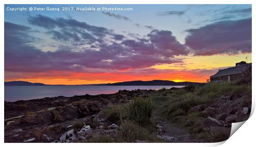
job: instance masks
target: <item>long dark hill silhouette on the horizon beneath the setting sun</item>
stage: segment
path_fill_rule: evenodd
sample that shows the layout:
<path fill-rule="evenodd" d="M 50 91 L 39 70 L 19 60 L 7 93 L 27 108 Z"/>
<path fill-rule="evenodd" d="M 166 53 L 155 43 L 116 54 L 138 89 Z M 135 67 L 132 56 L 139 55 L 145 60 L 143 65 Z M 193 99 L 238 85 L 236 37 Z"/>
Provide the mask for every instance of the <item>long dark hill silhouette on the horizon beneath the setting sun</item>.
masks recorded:
<path fill-rule="evenodd" d="M 199 85 L 201 83 L 197 82 L 174 82 L 170 80 L 150 80 L 150 81 L 142 81 L 142 80 L 134 80 L 127 82 L 118 82 L 118 83 L 108 83 L 108 84 L 99 84 L 106 86 L 185 86 L 185 85 Z"/>

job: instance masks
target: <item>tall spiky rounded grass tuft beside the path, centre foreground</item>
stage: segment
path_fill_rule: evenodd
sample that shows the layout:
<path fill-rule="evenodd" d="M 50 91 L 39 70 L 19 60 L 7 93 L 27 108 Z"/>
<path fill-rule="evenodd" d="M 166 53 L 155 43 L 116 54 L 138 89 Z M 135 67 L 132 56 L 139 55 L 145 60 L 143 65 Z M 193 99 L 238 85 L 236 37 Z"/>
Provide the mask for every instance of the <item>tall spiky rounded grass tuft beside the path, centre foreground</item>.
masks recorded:
<path fill-rule="evenodd" d="M 152 101 L 144 98 L 135 98 L 128 106 L 128 117 L 143 124 L 149 121 L 152 114 Z"/>

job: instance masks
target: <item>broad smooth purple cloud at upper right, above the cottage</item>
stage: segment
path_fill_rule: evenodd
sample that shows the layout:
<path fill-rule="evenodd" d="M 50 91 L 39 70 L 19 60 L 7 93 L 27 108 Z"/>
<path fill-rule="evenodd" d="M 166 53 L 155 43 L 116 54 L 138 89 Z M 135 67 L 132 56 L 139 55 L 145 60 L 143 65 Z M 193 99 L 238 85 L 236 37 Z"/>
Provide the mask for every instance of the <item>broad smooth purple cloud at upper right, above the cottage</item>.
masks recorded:
<path fill-rule="evenodd" d="M 194 55 L 251 53 L 251 18 L 220 21 L 187 32 L 185 45 Z"/>

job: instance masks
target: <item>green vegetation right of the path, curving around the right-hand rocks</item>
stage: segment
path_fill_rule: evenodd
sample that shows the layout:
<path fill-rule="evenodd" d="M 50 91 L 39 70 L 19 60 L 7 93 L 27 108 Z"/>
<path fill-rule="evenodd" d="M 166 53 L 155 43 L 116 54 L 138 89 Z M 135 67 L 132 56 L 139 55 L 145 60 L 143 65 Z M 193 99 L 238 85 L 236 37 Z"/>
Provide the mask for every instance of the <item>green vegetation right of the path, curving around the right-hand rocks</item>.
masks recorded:
<path fill-rule="evenodd" d="M 248 74 L 248 73 L 247 73 Z M 250 79 L 250 78 L 249 78 Z M 246 77 L 231 83 L 209 83 L 201 86 L 186 86 L 183 94 L 172 96 L 169 99 L 168 117 L 176 124 L 189 130 L 196 138 L 206 139 L 209 142 L 220 142 L 228 139 L 229 134 L 212 134 L 205 132 L 202 127 L 204 118 L 199 112 L 188 113 L 188 111 L 198 105 L 213 103 L 221 95 L 231 93 L 251 93 L 251 84 Z M 243 103 L 247 103 L 244 101 Z M 248 106 L 248 103 L 246 104 Z"/>

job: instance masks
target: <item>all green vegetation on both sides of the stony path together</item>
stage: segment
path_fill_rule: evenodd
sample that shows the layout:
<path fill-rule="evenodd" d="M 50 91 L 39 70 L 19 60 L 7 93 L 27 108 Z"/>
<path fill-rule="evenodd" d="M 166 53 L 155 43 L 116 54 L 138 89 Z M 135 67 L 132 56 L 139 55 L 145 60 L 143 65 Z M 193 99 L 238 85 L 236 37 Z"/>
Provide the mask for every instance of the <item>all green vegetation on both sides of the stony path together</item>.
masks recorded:
<path fill-rule="evenodd" d="M 121 142 L 133 142 L 136 139 L 154 142 L 156 140 L 155 134 L 152 133 L 156 131 L 154 121 L 161 120 L 157 118 L 150 119 L 152 115 L 161 115 L 169 121 L 175 122 L 175 124 L 189 131 L 194 138 L 209 142 L 220 142 L 228 139 L 229 134 L 213 134 L 204 131 L 202 125 L 204 117 L 199 112 L 191 113 L 189 111 L 194 106 L 211 104 L 227 93 L 251 93 L 251 83 L 248 81 L 250 80 L 244 76 L 231 83 L 189 85 L 175 90 L 162 88 L 147 98 L 134 98 L 125 105 L 108 106 L 103 112 L 107 119 L 119 124 L 117 133 Z M 243 103 L 244 106 L 248 106 L 250 102 L 243 101 Z"/>

